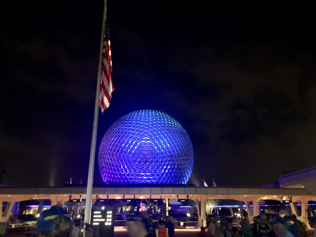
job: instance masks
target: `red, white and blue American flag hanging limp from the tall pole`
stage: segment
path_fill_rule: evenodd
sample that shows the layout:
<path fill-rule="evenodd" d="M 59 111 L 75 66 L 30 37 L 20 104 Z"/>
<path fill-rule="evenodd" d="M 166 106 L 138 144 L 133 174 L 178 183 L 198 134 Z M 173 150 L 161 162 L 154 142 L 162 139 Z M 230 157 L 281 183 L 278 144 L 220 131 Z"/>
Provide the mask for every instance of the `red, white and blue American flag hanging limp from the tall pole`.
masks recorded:
<path fill-rule="evenodd" d="M 102 51 L 101 85 L 100 85 L 100 100 L 99 100 L 99 106 L 100 106 L 102 114 L 110 106 L 112 91 L 114 91 L 111 73 L 112 73 L 112 56 L 111 56 L 111 44 L 110 44 L 110 31 L 109 31 L 107 18 L 106 18 L 104 40 L 103 40 L 103 51 Z"/>

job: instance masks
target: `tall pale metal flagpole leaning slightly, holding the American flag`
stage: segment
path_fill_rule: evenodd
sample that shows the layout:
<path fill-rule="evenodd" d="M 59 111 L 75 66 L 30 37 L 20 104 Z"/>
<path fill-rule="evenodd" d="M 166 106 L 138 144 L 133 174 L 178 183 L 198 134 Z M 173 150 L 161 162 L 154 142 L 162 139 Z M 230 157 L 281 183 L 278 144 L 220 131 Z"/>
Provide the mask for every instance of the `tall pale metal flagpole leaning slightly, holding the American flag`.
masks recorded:
<path fill-rule="evenodd" d="M 90 149 L 90 162 L 89 162 L 88 183 L 87 183 L 86 209 L 85 209 L 85 215 L 84 215 L 84 222 L 88 223 L 88 224 L 90 224 L 91 206 L 92 206 L 94 157 L 95 157 L 95 146 L 96 146 L 96 140 L 97 140 L 98 116 L 99 116 L 101 65 L 102 65 L 104 30 L 105 30 L 105 18 L 106 18 L 106 0 L 104 1 L 103 18 L 102 18 L 103 22 L 102 22 L 102 32 L 101 32 L 98 80 L 97 80 L 97 90 L 95 93 L 94 119 L 93 119 L 93 129 L 92 129 L 92 139 L 91 139 L 91 149 Z"/>

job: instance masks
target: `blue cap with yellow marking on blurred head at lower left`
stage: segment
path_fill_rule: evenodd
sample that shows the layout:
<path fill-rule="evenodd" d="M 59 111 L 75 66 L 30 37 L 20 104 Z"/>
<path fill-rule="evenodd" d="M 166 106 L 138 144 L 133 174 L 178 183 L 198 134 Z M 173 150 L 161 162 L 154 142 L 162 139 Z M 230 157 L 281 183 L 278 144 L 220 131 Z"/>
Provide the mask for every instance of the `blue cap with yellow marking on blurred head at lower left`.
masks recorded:
<path fill-rule="evenodd" d="M 59 230 L 58 225 L 53 225 L 58 218 L 70 219 L 70 214 L 58 206 L 52 206 L 50 209 L 43 211 L 37 219 L 36 231 Z"/>

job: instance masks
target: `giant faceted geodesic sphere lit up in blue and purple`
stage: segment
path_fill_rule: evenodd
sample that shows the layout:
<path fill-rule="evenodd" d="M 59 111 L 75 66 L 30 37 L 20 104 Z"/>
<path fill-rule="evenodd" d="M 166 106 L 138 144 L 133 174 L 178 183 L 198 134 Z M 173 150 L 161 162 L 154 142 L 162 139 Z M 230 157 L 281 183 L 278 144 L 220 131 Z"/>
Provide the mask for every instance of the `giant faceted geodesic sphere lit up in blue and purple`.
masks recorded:
<path fill-rule="evenodd" d="M 169 115 L 139 110 L 110 126 L 98 161 L 105 183 L 186 184 L 193 148 L 184 128 Z"/>

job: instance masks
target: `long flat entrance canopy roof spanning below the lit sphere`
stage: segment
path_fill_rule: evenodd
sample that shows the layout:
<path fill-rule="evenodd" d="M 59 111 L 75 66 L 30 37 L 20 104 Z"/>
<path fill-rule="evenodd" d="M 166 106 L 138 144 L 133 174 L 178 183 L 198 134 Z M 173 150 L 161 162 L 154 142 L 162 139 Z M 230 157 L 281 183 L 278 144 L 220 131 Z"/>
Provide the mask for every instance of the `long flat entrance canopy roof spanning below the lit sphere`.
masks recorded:
<path fill-rule="evenodd" d="M 51 199 L 72 195 L 72 198 L 85 198 L 86 186 L 63 186 L 43 188 L 0 188 L 1 199 Z M 309 197 L 316 200 L 316 195 L 304 188 L 258 188 L 258 187 L 198 187 L 188 185 L 110 185 L 93 188 L 93 195 L 99 198 L 179 198 L 194 199 L 195 197 L 206 197 L 210 199 L 275 199 L 289 200 L 290 196 Z M 108 195 L 108 197 L 107 197 Z M 134 197 L 135 195 L 135 197 Z M 189 196 L 187 196 L 189 195 Z M 69 197 L 64 197 L 66 200 Z M 94 197 L 93 197 L 94 198 Z M 288 198 L 288 199 L 287 199 Z"/>

